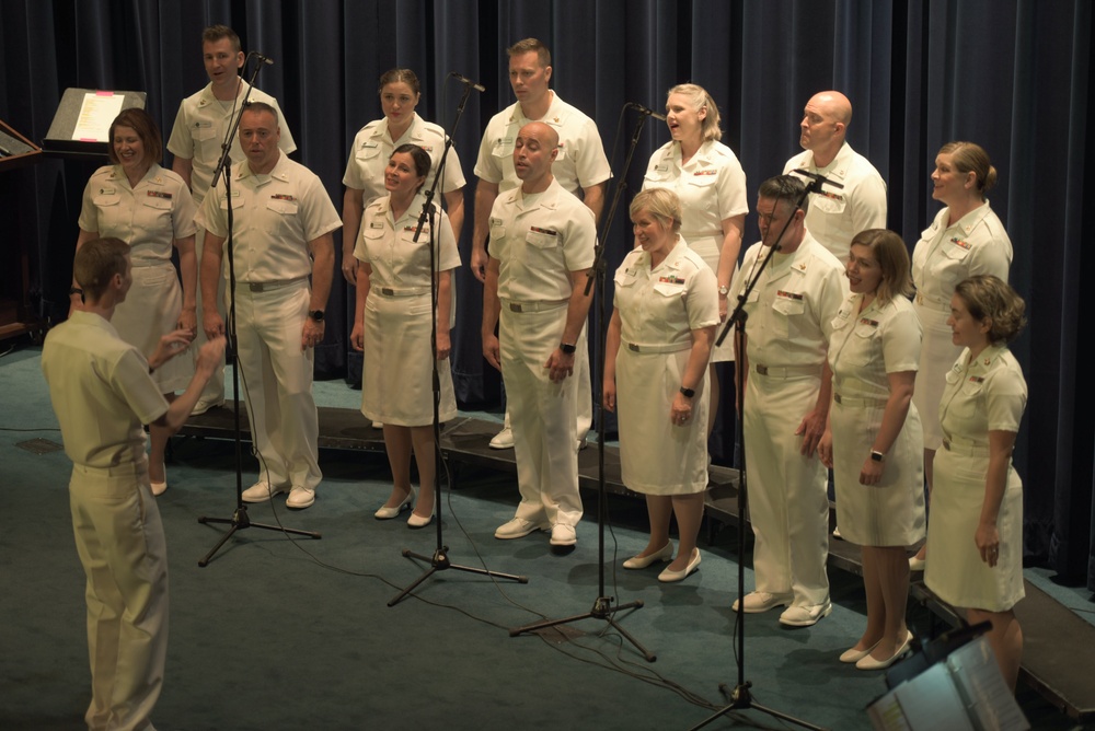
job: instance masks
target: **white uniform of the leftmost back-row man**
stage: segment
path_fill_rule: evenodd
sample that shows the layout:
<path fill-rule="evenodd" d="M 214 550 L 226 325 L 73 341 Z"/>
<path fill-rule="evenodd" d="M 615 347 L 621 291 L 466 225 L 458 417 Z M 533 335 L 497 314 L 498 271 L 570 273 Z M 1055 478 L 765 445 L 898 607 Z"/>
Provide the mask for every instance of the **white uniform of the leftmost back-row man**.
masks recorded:
<path fill-rule="evenodd" d="M 212 182 L 212 173 L 220 162 L 221 143 L 224 136 L 232 126 L 232 121 L 240 113 L 243 97 L 251 89 L 243 79 L 240 79 L 239 92 L 235 98 L 230 102 L 221 102 L 212 95 L 212 83 L 206 84 L 201 91 L 184 98 L 178 105 L 178 113 L 175 115 L 175 124 L 171 128 L 171 137 L 168 139 L 168 150 L 176 158 L 185 158 L 191 161 L 191 192 L 194 194 L 194 202 L 198 206 L 205 199 Z M 260 89 L 251 89 L 252 102 L 263 102 L 269 104 L 277 111 L 278 126 L 281 128 L 281 138 L 278 147 L 281 152 L 289 154 L 297 149 L 297 143 L 292 140 L 292 132 L 289 131 L 289 123 L 286 121 L 281 107 L 277 100 Z M 243 148 L 240 147 L 240 136 L 233 135 L 231 141 L 231 152 L 229 153 L 234 163 L 246 160 Z M 205 250 L 205 229 L 198 227 L 194 236 L 194 255 L 201 260 L 201 252 Z M 224 283 L 228 277 L 228 264 L 224 264 L 223 276 L 219 280 L 217 290 L 217 301 L 224 300 Z M 198 275 L 197 288 L 197 320 L 198 333 L 191 348 L 193 363 L 197 363 L 198 352 L 206 343 L 205 330 L 201 329 L 203 317 L 201 304 L 201 276 Z M 224 312 L 220 313 L 224 317 Z M 224 398 L 224 359 L 220 359 L 212 378 L 201 390 L 201 401 L 206 403 L 217 403 Z"/>

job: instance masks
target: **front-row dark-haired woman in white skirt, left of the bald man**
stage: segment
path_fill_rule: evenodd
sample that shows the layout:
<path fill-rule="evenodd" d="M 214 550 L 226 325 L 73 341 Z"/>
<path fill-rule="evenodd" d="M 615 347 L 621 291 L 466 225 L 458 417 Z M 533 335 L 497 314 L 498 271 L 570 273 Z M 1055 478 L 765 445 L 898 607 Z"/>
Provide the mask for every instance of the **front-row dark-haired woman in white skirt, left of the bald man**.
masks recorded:
<path fill-rule="evenodd" d="M 457 416 L 449 370 L 449 328 L 452 269 L 460 254 L 445 211 L 433 206 L 431 216 L 414 242 L 418 216 L 426 204 L 419 195 L 430 170 L 430 159 L 416 144 L 395 148 L 384 174 L 388 195 L 365 209 L 354 256 L 357 268 L 357 305 L 350 344 L 365 351 L 361 413 L 384 425 L 384 446 L 392 467 L 392 494 L 374 513 L 379 520 L 396 518 L 414 507 L 407 525 L 424 527 L 434 518 L 435 436 L 431 361 L 437 360 L 440 381 L 438 416 Z M 434 276 L 430 243 L 436 242 Z M 431 278 L 437 281 L 437 312 L 430 301 Z M 437 324 L 437 350 L 431 353 L 430 329 Z M 411 487 L 411 454 L 418 465 L 417 502 Z"/>

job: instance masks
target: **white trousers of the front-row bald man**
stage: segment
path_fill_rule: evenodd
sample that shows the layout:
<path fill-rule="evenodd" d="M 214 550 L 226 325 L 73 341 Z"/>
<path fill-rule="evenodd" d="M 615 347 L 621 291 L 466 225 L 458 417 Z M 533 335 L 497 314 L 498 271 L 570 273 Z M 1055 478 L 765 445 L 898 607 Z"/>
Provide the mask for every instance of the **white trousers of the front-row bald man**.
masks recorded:
<path fill-rule="evenodd" d="M 546 312 L 518 313 L 504 302 L 498 330 L 521 491 L 517 518 L 533 522 L 546 519 L 553 525 L 577 525 L 581 520 L 578 454 L 574 449 L 579 359 L 575 358 L 574 375 L 562 383 L 552 383 L 544 368 L 558 347 L 565 324 L 566 304 Z M 577 348 L 586 348 L 585 328 Z"/>

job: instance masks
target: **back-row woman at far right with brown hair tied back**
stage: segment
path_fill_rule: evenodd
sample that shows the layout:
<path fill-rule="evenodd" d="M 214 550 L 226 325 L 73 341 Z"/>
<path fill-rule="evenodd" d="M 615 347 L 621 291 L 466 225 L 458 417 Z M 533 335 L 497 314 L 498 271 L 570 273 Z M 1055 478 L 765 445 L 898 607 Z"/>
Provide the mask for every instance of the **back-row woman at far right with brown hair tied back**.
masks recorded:
<path fill-rule="evenodd" d="M 912 253 L 912 281 L 917 287 L 917 315 L 924 327 L 917 392 L 913 396 L 924 427 L 924 476 L 932 489 L 932 461 L 943 442 L 940 396 L 944 375 L 961 350 L 950 340 L 947 316 L 955 285 L 986 274 L 1007 281 L 1012 241 L 1004 224 L 989 207 L 986 195 L 996 184 L 996 169 L 980 146 L 948 142 L 935 156 L 932 197 L 945 204 L 921 234 Z M 926 547 L 910 559 L 923 570 Z"/>

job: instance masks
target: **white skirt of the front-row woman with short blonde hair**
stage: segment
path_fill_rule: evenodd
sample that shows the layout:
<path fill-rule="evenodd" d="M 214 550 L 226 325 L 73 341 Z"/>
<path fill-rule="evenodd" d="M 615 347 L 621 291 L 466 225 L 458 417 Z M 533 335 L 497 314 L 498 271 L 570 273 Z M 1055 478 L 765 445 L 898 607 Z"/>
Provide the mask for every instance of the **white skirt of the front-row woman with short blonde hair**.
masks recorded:
<path fill-rule="evenodd" d="M 616 356 L 616 416 L 623 484 L 647 495 L 689 495 L 707 487 L 707 370 L 695 387 L 692 418 L 669 420 L 690 349 Z"/>

